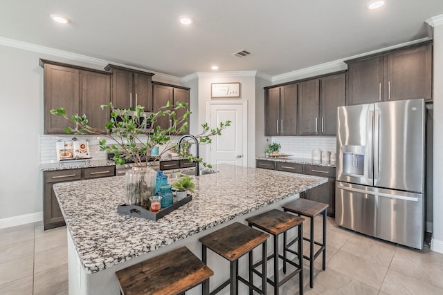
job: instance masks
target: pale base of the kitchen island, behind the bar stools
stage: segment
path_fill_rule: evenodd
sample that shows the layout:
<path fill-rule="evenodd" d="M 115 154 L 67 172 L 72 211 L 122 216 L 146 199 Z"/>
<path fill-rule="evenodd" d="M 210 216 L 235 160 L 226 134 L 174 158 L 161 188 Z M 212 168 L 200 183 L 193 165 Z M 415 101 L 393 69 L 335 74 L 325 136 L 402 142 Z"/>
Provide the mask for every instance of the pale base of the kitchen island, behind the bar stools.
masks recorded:
<path fill-rule="evenodd" d="M 76 295 L 119 295 L 120 287 L 118 285 L 118 280 L 116 278 L 115 272 L 120 269 L 124 269 L 131 265 L 135 265 L 136 263 L 141 263 L 144 260 L 153 258 L 155 256 L 159 256 L 161 254 L 165 254 L 168 251 L 172 251 L 179 247 L 186 246 L 190 251 L 192 251 L 195 256 L 201 259 L 201 243 L 199 242 L 199 238 L 206 236 L 226 225 L 230 225 L 233 222 L 242 222 L 247 225 L 245 221 L 246 218 L 255 216 L 257 214 L 263 213 L 265 211 L 269 211 L 270 209 L 278 209 L 281 208 L 282 205 L 287 204 L 293 200 L 299 198 L 298 194 L 285 198 L 284 200 L 280 200 L 273 204 L 269 204 L 268 206 L 255 210 L 251 213 L 248 213 L 239 218 L 235 218 L 235 220 L 230 220 L 228 222 L 224 222 L 221 225 L 217 225 L 216 227 L 212 227 L 210 229 L 206 229 L 198 234 L 185 238 L 183 240 L 178 240 L 177 242 L 172 243 L 172 245 L 168 245 L 166 247 L 161 247 L 156 249 L 155 251 L 149 252 L 147 254 L 143 254 L 142 256 L 138 256 L 136 258 L 132 258 L 131 260 L 127 260 L 125 262 L 119 263 L 118 265 L 112 265 L 112 267 L 105 268 L 100 270 L 100 272 L 96 272 L 91 274 L 87 272 L 82 267 L 82 263 L 78 258 L 77 250 L 75 249 L 73 239 L 71 238 L 71 233 L 68 231 L 68 276 L 69 276 L 69 294 Z M 288 239 L 296 238 L 296 232 L 288 231 Z M 282 242 L 279 243 L 280 247 L 282 247 Z M 260 247 L 259 247 L 260 248 Z M 280 249 L 282 251 L 282 249 Z M 273 253 L 273 247 L 268 247 L 268 254 L 271 255 Z M 253 257 L 260 257 L 261 249 L 254 249 Z M 214 276 L 211 276 L 211 285 L 218 286 L 223 283 L 226 278 L 229 276 L 229 263 L 226 259 L 221 258 L 219 255 L 214 253 L 208 253 L 208 265 L 211 265 L 211 269 L 213 269 Z M 245 277 L 248 277 L 248 267 L 247 267 L 247 257 L 242 257 L 239 260 L 239 274 Z M 267 272 L 273 272 L 272 265 L 268 265 Z M 254 284 L 260 286 L 260 278 L 254 278 Z M 211 290 L 212 291 L 212 290 Z M 228 288 L 220 292 L 219 294 L 229 294 Z M 239 285 L 239 294 L 248 294 L 248 287 L 243 284 Z M 186 292 L 186 295 L 201 295 L 201 287 L 197 286 L 193 289 L 190 289 Z"/>

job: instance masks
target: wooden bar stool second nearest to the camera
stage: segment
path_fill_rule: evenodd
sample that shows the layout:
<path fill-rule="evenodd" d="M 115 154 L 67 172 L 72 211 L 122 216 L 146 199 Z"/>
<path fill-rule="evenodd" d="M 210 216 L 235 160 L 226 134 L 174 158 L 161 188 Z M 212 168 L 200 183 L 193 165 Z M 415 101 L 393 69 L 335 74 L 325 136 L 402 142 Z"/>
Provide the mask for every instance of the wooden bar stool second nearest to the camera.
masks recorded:
<path fill-rule="evenodd" d="M 238 294 L 238 281 L 241 281 L 249 287 L 249 292 L 252 294 L 253 290 L 259 294 L 266 294 L 266 267 L 262 268 L 262 289 L 253 285 L 253 272 L 251 267 L 253 265 L 252 251 L 255 247 L 262 245 L 262 261 L 266 261 L 266 240 L 269 238 L 268 234 L 262 231 L 251 229 L 247 225 L 234 222 L 218 231 L 214 231 L 208 236 L 200 238 L 201 242 L 201 260 L 206 263 L 206 251 L 211 249 L 221 257 L 230 261 L 230 278 L 226 282 L 217 287 L 210 295 L 217 294 L 230 285 L 230 294 Z M 249 280 L 242 278 L 238 274 L 238 259 L 248 253 L 248 271 Z M 266 263 L 263 263 L 266 265 Z"/>

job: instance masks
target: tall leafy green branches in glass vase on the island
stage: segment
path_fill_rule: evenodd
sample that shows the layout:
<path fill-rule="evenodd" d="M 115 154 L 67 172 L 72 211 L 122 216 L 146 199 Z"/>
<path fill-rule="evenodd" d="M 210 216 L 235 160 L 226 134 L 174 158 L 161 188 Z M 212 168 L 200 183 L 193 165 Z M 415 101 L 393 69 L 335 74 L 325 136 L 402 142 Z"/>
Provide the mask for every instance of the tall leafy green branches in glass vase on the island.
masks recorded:
<path fill-rule="evenodd" d="M 51 114 L 60 115 L 71 123 L 71 127 L 64 129 L 66 133 L 73 134 L 97 134 L 107 137 L 107 140 L 100 140 L 100 150 L 114 153 L 116 164 L 125 164 L 127 160 L 134 162 L 132 170 L 126 173 L 126 204 L 141 205 L 148 207 L 150 196 L 154 196 L 156 184 L 156 171 L 150 169 L 150 162 L 145 159 L 154 158 L 159 160 L 161 155 L 177 149 L 177 142 L 174 142 L 176 135 L 186 133 L 188 129 L 188 117 L 190 111 L 186 108 L 188 104 L 176 102 L 176 104 L 166 104 L 151 115 L 145 115 L 143 106 L 136 106 L 135 110 L 114 108 L 112 103 L 100 106 L 102 110 L 109 109 L 110 120 L 105 124 L 105 130 L 96 129 L 89 126 L 86 115 L 71 115 L 68 117 L 64 108 L 51 110 Z M 186 111 L 183 112 L 183 108 Z M 177 117 L 177 113 L 183 113 Z M 162 129 L 157 123 L 160 117 L 166 116 L 170 119 L 170 126 Z M 141 129 L 139 126 L 146 126 L 147 123 L 154 126 L 152 132 Z M 221 122 L 215 129 L 210 129 L 208 124 L 201 125 L 203 131 L 195 136 L 199 143 L 207 144 L 211 142 L 213 135 L 221 135 L 221 130 L 230 126 L 230 121 Z M 162 146 L 163 150 L 157 155 L 152 155 L 154 146 Z M 199 157 L 191 155 L 188 151 L 180 151 L 179 155 L 187 158 L 190 162 L 198 161 L 204 166 L 211 168 Z"/>

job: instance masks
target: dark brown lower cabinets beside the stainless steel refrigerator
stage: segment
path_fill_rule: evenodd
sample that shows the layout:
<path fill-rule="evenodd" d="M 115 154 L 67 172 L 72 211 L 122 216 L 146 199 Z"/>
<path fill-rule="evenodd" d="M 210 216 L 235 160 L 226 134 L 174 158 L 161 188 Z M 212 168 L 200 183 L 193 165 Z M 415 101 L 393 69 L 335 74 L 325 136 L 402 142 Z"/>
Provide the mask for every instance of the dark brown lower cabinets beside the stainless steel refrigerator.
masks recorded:
<path fill-rule="evenodd" d="M 271 160 L 257 160 L 257 168 L 275 169 L 292 173 L 314 175 L 327 178 L 327 182 L 318 187 L 308 189 L 300 193 L 300 198 L 314 200 L 329 204 L 327 216 L 335 217 L 335 167 L 318 166 L 309 164 L 298 164 L 289 162 L 279 162 Z"/>

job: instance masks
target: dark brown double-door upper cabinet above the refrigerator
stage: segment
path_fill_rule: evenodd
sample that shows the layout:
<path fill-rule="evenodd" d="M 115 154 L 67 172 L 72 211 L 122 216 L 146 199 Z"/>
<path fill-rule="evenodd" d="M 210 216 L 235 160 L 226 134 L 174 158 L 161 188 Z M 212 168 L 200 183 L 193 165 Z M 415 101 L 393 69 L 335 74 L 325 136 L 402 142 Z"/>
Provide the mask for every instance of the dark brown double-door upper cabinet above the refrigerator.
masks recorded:
<path fill-rule="evenodd" d="M 347 104 L 432 100 L 432 43 L 346 61 Z"/>

